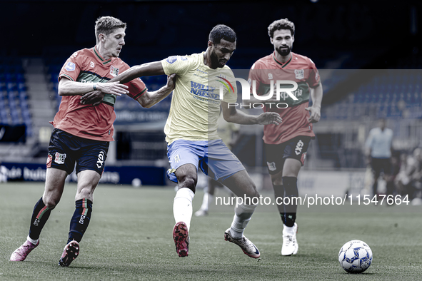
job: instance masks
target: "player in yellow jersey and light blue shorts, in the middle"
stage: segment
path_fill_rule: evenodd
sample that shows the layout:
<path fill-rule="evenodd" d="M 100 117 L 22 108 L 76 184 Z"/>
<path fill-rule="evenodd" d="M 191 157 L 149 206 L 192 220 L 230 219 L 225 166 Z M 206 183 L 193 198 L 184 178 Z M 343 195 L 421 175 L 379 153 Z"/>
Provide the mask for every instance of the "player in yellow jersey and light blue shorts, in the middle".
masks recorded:
<path fill-rule="evenodd" d="M 237 111 L 235 107 L 228 107 L 228 103 L 234 103 L 237 99 L 233 73 L 226 66 L 235 49 L 235 32 L 220 24 L 211 30 L 206 51 L 133 66 L 111 79 L 111 82 L 126 83 L 140 76 L 176 73 L 176 86 L 164 132 L 171 164 L 168 176 L 179 186 L 173 206 L 176 220 L 173 237 L 180 257 L 188 255 L 192 200 L 198 168 L 226 185 L 237 196 L 259 196 L 243 165 L 218 137 L 220 107 L 223 108 L 223 117 L 228 122 L 262 125 L 281 123 L 278 113 L 267 112 L 260 116 L 250 116 Z M 233 88 L 224 89 L 220 99 L 218 83 L 214 82 L 223 81 L 223 78 L 228 81 L 232 79 Z M 231 228 L 226 230 L 224 237 L 241 247 L 246 255 L 258 258 L 259 250 L 243 235 L 243 230 L 256 208 L 252 201 L 236 205 Z"/>

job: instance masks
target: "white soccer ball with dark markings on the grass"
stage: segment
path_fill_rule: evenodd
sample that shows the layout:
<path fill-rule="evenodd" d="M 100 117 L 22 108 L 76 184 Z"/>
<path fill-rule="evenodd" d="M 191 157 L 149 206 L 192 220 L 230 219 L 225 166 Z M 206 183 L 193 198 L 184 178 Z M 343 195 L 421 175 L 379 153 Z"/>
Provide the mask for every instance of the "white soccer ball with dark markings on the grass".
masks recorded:
<path fill-rule="evenodd" d="M 348 241 L 338 252 L 338 262 L 347 272 L 364 272 L 371 265 L 372 250 L 361 240 Z"/>

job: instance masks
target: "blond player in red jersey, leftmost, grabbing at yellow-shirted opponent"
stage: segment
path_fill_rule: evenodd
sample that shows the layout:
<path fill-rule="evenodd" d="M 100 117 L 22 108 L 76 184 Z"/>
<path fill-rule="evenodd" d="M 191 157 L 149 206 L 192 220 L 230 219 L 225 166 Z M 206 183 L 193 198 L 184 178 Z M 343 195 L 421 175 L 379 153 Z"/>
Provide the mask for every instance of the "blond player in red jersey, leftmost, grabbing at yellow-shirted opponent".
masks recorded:
<path fill-rule="evenodd" d="M 54 130 L 49 144 L 44 195 L 34 207 L 27 240 L 11 255 L 12 261 L 25 260 L 39 245 L 41 230 L 51 210 L 59 203 L 64 181 L 76 163 L 76 208 L 71 218 L 69 239 L 59 260 L 61 266 L 70 265 L 79 255 L 79 242 L 91 220 L 93 193 L 104 170 L 109 142 L 114 141 L 116 96 L 127 94 L 141 106 L 150 107 L 174 88 L 174 76 L 169 76 L 166 86 L 151 93 L 139 78 L 126 84 L 104 83 L 129 69 L 119 58 L 125 44 L 125 30 L 126 24 L 119 19 L 111 16 L 99 18 L 95 26 L 96 46 L 76 51 L 61 68 L 59 95 L 62 98 L 59 112 L 51 122 Z M 91 91 L 95 92 L 81 101 L 81 96 Z"/>

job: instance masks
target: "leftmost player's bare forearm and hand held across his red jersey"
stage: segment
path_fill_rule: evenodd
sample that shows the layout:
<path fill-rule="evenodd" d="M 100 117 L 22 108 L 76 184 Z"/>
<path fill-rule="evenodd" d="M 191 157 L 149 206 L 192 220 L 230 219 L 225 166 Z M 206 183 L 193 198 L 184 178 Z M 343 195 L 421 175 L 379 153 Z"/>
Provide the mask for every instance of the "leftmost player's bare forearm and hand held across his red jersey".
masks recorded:
<path fill-rule="evenodd" d="M 62 77 L 59 81 L 59 96 L 82 96 L 86 93 L 98 90 L 101 93 L 108 93 L 110 95 L 121 96 L 126 93 L 128 86 L 119 83 L 81 83 L 71 81 L 68 78 Z"/>

